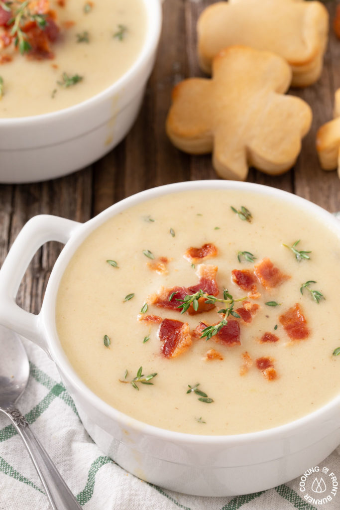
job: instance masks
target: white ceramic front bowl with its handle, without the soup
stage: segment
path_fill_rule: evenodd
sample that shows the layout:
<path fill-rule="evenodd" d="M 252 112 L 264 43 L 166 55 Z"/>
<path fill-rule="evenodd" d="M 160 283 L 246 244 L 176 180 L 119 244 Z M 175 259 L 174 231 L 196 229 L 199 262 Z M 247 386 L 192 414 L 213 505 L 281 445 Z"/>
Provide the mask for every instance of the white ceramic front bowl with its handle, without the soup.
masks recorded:
<path fill-rule="evenodd" d="M 203 496 L 245 494 L 284 483 L 318 465 L 340 443 L 340 396 L 294 422 L 236 436 L 195 436 L 130 418 L 94 395 L 76 375 L 58 340 L 56 296 L 73 253 L 101 223 L 153 197 L 194 189 L 247 190 L 259 199 L 283 199 L 311 218 L 319 217 L 340 238 L 340 223 L 300 197 L 256 184 L 196 181 L 143 191 L 80 224 L 54 216 L 36 216 L 22 229 L 0 270 L 0 323 L 40 345 L 56 362 L 64 384 L 90 436 L 104 453 L 131 473 L 167 489 Z M 43 243 L 65 244 L 49 278 L 41 312 L 24 312 L 15 303 L 22 276 Z"/>

